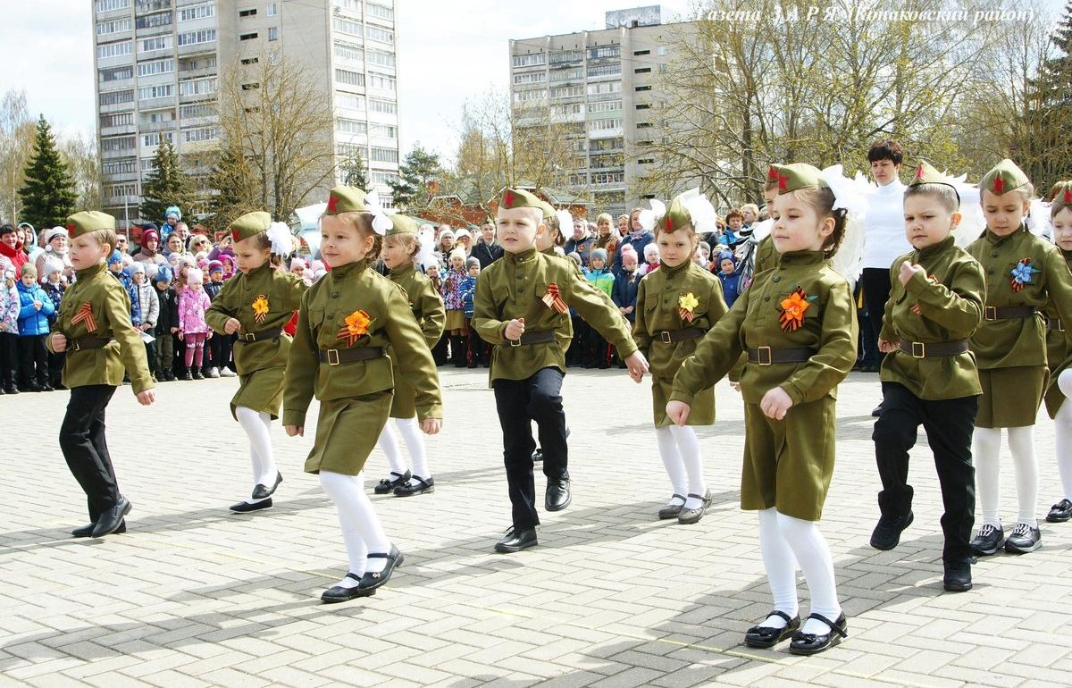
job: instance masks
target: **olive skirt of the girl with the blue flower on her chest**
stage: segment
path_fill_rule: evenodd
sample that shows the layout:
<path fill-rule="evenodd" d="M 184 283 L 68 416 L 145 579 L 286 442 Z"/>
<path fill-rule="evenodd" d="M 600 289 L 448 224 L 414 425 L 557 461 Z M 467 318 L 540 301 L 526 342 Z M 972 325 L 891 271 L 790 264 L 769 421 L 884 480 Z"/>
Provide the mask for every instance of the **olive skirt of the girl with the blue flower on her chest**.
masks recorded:
<path fill-rule="evenodd" d="M 979 415 L 976 428 L 1033 425 L 1049 379 L 1044 365 L 994 368 L 979 371 Z"/>

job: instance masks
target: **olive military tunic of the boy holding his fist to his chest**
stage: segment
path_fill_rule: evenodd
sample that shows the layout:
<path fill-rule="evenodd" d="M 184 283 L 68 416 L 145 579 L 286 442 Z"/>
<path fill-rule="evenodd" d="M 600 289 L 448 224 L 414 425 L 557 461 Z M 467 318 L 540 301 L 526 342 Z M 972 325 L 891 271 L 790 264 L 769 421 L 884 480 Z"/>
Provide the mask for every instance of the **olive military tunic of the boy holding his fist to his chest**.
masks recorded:
<path fill-rule="evenodd" d="M 908 260 L 922 266 L 908 284 L 900 283 L 900 265 Z M 890 300 L 885 302 L 880 339 L 888 342 L 927 344 L 969 339 L 983 317 L 986 278 L 979 261 L 958 248 L 950 236 L 934 245 L 907 253 L 890 268 Z M 920 315 L 912 312 L 919 305 Z M 904 385 L 920 399 L 938 401 L 982 393 L 976 357 L 971 352 L 957 356 L 917 358 L 897 349 L 882 362 L 882 382 Z"/>

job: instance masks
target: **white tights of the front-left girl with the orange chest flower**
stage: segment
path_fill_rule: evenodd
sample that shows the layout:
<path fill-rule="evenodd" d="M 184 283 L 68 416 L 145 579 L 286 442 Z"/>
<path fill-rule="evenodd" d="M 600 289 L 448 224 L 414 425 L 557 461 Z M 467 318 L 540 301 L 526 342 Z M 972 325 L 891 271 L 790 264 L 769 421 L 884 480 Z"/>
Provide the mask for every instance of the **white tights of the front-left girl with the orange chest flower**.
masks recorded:
<path fill-rule="evenodd" d="M 391 548 L 379 517 L 372 507 L 372 500 L 364 494 L 364 474 L 347 476 L 330 470 L 321 472 L 321 485 L 324 492 L 334 502 L 339 511 L 339 523 L 342 525 L 343 540 L 346 542 L 346 555 L 349 557 L 351 571 L 354 573 L 378 573 L 387 566 L 384 557 L 368 558 L 370 552 L 389 552 Z M 353 529 L 364 549 L 351 549 L 347 530 Z M 357 567 L 357 568 L 355 568 Z"/>

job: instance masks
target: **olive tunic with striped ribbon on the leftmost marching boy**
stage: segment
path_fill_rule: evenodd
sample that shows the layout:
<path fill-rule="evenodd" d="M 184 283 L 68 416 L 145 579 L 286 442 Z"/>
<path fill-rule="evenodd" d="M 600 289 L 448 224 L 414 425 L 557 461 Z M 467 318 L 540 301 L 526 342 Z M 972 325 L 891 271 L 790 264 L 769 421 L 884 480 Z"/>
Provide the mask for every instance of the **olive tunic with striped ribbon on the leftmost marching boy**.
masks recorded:
<path fill-rule="evenodd" d="M 152 389 L 152 376 L 145 356 L 142 333 L 131 325 L 131 303 L 126 289 L 111 276 L 104 264 L 75 273 L 75 282 L 63 293 L 60 312 L 51 331 L 68 339 L 63 361 L 63 386 L 123 384 L 123 370 L 135 394 Z M 74 348 L 74 340 L 111 338 L 103 348 Z M 45 343 L 53 350 L 53 338 Z M 55 352 L 54 352 L 55 353 Z"/>

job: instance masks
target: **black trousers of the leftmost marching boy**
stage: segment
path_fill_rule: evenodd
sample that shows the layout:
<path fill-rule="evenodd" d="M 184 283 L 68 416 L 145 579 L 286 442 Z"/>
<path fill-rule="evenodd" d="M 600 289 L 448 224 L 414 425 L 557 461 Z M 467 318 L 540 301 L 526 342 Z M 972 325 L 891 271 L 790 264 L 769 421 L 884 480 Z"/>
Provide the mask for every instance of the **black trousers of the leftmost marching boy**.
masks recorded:
<path fill-rule="evenodd" d="M 119 502 L 116 470 L 104 440 L 104 409 L 115 391 L 110 385 L 71 389 L 71 401 L 60 425 L 60 449 L 71 475 L 86 493 L 89 520 L 93 522 Z"/>

